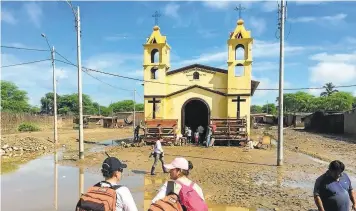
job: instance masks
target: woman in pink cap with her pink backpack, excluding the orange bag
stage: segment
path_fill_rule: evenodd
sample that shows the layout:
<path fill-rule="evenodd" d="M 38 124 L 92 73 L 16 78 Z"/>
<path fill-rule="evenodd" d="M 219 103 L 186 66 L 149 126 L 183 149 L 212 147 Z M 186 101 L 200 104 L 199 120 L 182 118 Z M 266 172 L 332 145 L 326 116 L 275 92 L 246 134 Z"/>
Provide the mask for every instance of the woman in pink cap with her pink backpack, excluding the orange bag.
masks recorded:
<path fill-rule="evenodd" d="M 207 210 L 202 189 L 198 184 L 188 179 L 189 171 L 193 169 L 193 164 L 185 158 L 177 157 L 172 163 L 165 164 L 164 167 L 169 170 L 170 179 L 173 181 L 164 183 L 158 194 L 153 198 L 152 203 L 173 193 L 179 196 L 181 204 L 185 207 L 195 206 L 201 211 Z M 187 196 L 189 197 L 187 198 Z"/>

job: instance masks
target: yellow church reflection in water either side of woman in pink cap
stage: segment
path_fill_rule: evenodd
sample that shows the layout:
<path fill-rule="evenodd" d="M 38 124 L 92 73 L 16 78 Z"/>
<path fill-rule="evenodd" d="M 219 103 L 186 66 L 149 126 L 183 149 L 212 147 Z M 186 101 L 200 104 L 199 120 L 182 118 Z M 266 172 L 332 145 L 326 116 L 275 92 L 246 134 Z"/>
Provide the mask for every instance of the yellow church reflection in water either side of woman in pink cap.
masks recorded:
<path fill-rule="evenodd" d="M 145 175 L 144 210 L 148 210 L 151 200 L 158 192 L 158 188 L 167 181 L 168 177 Z M 150 190 L 150 191 L 147 191 Z M 267 211 L 266 209 L 251 209 L 228 205 L 215 205 L 208 203 L 209 211 Z"/>

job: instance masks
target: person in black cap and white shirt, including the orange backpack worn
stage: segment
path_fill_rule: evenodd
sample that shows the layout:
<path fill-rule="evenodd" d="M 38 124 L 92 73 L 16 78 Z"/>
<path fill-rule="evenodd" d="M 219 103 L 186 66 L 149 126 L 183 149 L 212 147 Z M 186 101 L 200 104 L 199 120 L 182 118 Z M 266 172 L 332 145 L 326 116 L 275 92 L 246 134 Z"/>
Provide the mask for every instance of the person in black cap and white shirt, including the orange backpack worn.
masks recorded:
<path fill-rule="evenodd" d="M 137 211 L 130 190 L 118 185 L 126 167 L 115 157 L 106 158 L 101 169 L 105 181 L 90 187 L 82 195 L 76 211 Z"/>

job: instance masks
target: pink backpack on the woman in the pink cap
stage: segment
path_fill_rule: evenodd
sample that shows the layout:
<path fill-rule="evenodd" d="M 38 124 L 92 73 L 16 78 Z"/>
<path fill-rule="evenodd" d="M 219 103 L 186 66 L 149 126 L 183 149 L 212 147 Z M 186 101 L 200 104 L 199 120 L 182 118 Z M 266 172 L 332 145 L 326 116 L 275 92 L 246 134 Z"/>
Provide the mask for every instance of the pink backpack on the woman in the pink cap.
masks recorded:
<path fill-rule="evenodd" d="M 208 211 L 208 205 L 193 189 L 194 182 L 189 186 L 186 186 L 179 181 L 176 181 L 176 183 L 182 186 L 179 192 L 179 199 L 187 211 Z"/>

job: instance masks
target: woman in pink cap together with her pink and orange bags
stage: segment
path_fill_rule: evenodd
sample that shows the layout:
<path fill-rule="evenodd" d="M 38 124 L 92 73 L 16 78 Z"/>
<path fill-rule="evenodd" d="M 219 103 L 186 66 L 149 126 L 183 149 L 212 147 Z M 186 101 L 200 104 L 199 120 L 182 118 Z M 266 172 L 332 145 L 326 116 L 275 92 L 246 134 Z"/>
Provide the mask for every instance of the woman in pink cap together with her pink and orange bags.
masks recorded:
<path fill-rule="evenodd" d="M 160 188 L 148 211 L 208 211 L 202 189 L 188 179 L 193 164 L 178 157 L 164 167 L 169 170 L 172 181 Z"/>

